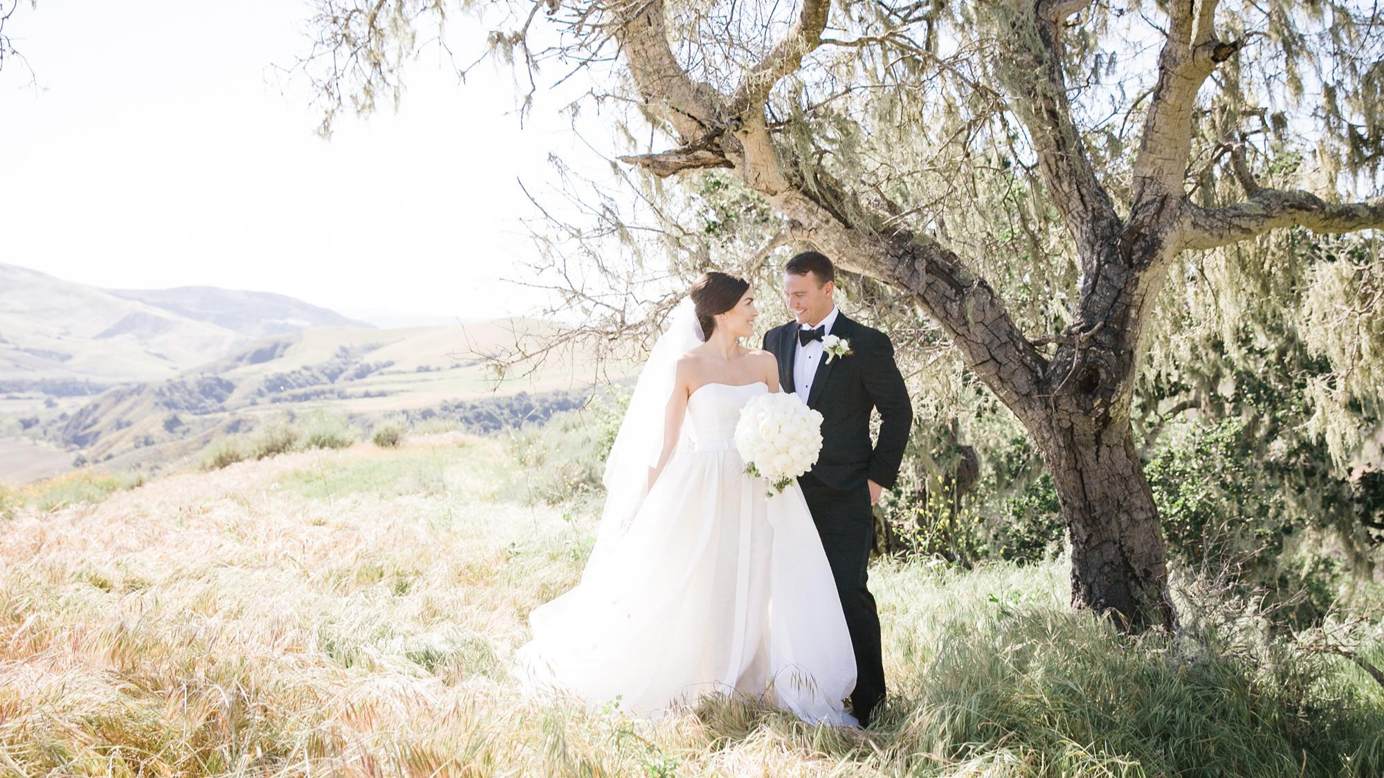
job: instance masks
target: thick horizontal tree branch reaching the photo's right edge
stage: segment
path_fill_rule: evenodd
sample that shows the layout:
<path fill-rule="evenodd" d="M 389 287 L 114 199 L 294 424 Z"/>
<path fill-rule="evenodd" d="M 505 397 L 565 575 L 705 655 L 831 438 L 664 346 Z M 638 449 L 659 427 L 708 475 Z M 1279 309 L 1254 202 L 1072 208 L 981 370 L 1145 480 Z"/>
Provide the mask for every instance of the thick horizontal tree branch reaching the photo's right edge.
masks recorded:
<path fill-rule="evenodd" d="M 1222 208 L 1190 206 L 1182 248 L 1214 249 L 1280 227 L 1354 233 L 1384 227 L 1384 199 L 1333 203 L 1305 191 L 1258 188 L 1250 199 Z"/>

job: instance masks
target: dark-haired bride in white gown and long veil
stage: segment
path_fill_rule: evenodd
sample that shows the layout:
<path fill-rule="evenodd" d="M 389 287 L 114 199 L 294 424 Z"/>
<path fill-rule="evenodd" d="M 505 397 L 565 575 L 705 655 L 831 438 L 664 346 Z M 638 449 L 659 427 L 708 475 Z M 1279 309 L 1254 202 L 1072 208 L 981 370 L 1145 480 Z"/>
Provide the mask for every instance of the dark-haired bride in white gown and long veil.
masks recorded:
<path fill-rule="evenodd" d="M 655 345 L 606 460 L 581 583 L 530 615 L 527 694 L 657 716 L 702 695 L 763 698 L 854 725 L 855 655 L 797 483 L 767 497 L 735 449 L 740 407 L 778 392 L 749 284 L 706 273 Z"/>

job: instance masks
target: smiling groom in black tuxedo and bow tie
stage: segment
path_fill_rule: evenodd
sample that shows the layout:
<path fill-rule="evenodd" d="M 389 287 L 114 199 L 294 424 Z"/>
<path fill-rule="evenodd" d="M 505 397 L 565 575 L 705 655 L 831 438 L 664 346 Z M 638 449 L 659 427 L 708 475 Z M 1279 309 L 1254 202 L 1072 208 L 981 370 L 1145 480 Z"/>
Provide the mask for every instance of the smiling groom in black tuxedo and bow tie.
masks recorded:
<path fill-rule="evenodd" d="M 783 390 L 796 392 L 822 414 L 822 453 L 797 482 L 841 597 L 855 649 L 851 707 L 865 727 L 884 699 L 879 613 L 865 588 L 875 530 L 871 505 L 894 486 L 913 407 L 889 336 L 839 311 L 832 302 L 835 288 L 836 269 L 825 255 L 810 251 L 790 259 L 783 267 L 783 295 L 797 321 L 770 329 L 764 349 L 778 357 Z M 879 408 L 882 421 L 873 449 L 872 408 Z"/>

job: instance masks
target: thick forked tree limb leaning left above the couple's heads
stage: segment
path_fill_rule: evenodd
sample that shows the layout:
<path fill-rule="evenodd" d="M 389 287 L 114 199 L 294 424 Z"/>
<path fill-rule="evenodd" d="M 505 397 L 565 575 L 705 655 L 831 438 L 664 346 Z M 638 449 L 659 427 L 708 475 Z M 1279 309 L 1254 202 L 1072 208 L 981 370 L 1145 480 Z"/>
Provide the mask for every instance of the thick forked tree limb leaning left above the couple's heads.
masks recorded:
<path fill-rule="evenodd" d="M 803 180 L 785 170 L 763 101 L 783 75 L 819 43 L 826 0 L 805 0 L 803 17 L 734 98 L 740 112 L 725 111 L 725 97 L 693 83 L 677 64 L 664 32 L 662 0 L 619 25 L 617 36 L 635 86 L 652 114 L 673 122 L 684 147 L 662 155 L 631 158 L 637 165 L 675 172 L 720 161 L 792 219 L 804 239 L 850 271 L 864 273 L 908 292 L 951 334 L 967 364 L 1013 408 L 1032 407 L 1046 360 L 1023 336 L 994 288 L 951 251 L 926 235 L 889 223 L 889 215 L 858 201 L 822 170 Z M 1071 137 L 1075 137 L 1074 134 Z M 699 150 L 720 152 L 720 158 Z M 656 170 L 657 172 L 657 170 Z M 1092 177 L 1093 180 L 1093 177 Z"/>

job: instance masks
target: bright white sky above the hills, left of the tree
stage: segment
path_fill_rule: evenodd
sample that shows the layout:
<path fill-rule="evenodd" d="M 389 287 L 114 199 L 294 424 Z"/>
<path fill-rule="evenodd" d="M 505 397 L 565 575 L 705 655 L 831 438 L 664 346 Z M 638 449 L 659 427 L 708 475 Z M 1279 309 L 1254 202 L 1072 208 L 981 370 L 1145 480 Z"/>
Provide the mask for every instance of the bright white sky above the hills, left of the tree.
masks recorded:
<path fill-rule="evenodd" d="M 534 249 L 519 190 L 588 155 L 555 97 L 520 130 L 508 69 L 458 86 L 437 47 L 397 114 L 322 141 L 303 79 L 302 0 L 21 3 L 0 72 L 0 262 L 97 287 L 190 284 L 343 313 L 522 313 L 504 284 Z M 458 61 L 483 30 L 451 21 Z"/>

